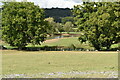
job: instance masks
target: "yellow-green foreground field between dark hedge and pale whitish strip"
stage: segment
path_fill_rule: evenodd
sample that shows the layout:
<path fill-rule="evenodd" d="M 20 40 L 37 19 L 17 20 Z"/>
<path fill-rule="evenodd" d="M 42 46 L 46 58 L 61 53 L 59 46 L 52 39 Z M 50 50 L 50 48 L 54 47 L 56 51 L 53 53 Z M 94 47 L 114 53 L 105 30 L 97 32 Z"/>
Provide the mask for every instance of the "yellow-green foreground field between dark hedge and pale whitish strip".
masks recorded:
<path fill-rule="evenodd" d="M 118 54 L 50 51 L 3 51 L 3 74 L 69 71 L 117 71 Z"/>

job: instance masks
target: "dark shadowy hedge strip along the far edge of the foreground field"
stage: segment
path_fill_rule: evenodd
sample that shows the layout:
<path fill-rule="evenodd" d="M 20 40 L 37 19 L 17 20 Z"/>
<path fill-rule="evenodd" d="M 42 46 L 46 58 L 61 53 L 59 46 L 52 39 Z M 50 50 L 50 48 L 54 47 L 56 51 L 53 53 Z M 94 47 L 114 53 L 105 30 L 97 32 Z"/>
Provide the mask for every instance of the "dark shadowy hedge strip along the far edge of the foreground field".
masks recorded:
<path fill-rule="evenodd" d="M 19 48 L 6 48 L 3 45 L 0 45 L 0 50 L 19 50 L 19 51 L 97 51 L 95 49 L 86 49 L 86 48 L 76 48 L 74 46 L 42 46 L 42 47 L 24 47 Z M 117 51 L 118 48 L 111 48 L 110 50 L 101 50 L 101 51 Z"/>

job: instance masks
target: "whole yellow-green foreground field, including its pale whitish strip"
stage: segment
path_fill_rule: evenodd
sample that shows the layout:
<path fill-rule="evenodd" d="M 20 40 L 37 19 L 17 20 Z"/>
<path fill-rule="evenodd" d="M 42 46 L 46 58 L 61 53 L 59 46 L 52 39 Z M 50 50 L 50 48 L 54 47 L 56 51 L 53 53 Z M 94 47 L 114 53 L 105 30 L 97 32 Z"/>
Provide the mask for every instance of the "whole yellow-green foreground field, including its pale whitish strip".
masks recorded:
<path fill-rule="evenodd" d="M 117 52 L 4 50 L 3 77 L 117 77 Z"/>

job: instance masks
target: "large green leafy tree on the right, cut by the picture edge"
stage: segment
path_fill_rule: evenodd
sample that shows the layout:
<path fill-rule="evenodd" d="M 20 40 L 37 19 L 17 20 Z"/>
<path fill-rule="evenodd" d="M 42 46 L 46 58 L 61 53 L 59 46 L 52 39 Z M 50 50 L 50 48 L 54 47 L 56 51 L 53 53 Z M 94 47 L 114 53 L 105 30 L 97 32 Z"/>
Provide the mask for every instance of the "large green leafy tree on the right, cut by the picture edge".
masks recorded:
<path fill-rule="evenodd" d="M 83 32 L 81 42 L 89 41 L 95 49 L 106 50 L 120 40 L 120 2 L 84 2 L 74 7 L 75 24 Z"/>

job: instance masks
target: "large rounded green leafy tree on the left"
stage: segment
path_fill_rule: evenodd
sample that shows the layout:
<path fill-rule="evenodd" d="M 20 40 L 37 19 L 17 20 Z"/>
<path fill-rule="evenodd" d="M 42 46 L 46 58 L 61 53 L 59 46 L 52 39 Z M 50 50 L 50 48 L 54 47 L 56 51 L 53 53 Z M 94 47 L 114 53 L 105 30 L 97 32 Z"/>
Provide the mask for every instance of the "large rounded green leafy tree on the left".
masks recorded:
<path fill-rule="evenodd" d="M 44 10 L 31 2 L 7 2 L 2 11 L 2 39 L 23 49 L 27 44 L 41 44 L 46 38 L 48 23 Z"/>

